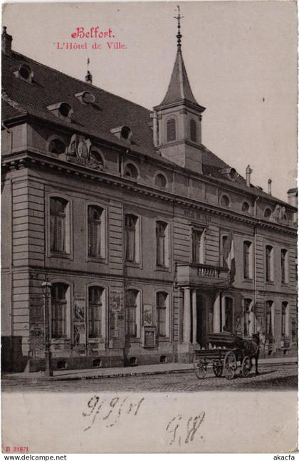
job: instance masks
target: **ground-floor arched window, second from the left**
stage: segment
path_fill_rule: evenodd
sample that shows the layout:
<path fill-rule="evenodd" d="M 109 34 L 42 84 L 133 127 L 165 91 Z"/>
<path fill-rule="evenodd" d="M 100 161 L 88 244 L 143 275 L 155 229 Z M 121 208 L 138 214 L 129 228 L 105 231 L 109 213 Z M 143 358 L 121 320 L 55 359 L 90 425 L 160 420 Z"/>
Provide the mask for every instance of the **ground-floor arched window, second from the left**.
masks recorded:
<path fill-rule="evenodd" d="M 102 331 L 103 288 L 88 288 L 88 338 L 98 338 Z"/>

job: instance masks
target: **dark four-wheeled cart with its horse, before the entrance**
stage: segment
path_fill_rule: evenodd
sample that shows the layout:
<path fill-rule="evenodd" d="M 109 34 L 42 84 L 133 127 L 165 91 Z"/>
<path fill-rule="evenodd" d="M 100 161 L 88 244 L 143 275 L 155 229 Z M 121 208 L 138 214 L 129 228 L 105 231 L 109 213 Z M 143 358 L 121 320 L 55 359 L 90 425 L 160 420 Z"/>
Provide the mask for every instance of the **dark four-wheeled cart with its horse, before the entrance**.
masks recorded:
<path fill-rule="evenodd" d="M 231 333 L 213 333 L 207 338 L 207 347 L 194 351 L 194 371 L 197 378 L 203 379 L 211 366 L 215 376 L 231 380 L 238 369 L 247 378 L 251 371 L 251 358 L 258 357 L 258 341 L 247 340 Z M 256 363 L 257 366 L 257 363 Z M 256 368 L 257 371 L 257 368 Z"/>

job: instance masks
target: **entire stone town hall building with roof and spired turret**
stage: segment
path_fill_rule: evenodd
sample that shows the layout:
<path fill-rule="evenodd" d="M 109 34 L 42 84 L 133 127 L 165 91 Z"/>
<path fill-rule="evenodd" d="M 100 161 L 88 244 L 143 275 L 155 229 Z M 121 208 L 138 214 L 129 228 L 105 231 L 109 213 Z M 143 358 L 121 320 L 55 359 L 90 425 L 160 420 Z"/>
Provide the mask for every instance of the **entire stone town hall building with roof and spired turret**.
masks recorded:
<path fill-rule="evenodd" d="M 297 351 L 297 190 L 282 202 L 201 143 L 178 35 L 152 111 L 2 33 L 3 370 L 192 361 L 212 332 Z M 270 192 L 270 191 L 269 191 Z"/>

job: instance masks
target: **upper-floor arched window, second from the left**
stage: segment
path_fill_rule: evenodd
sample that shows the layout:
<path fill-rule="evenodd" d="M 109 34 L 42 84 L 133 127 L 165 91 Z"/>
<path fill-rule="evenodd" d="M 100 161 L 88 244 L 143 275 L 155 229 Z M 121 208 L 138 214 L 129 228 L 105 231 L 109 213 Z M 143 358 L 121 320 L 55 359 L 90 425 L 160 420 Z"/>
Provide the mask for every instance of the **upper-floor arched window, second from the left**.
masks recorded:
<path fill-rule="evenodd" d="M 99 258 L 105 256 L 105 226 L 102 222 L 103 208 L 88 206 L 88 256 Z"/>

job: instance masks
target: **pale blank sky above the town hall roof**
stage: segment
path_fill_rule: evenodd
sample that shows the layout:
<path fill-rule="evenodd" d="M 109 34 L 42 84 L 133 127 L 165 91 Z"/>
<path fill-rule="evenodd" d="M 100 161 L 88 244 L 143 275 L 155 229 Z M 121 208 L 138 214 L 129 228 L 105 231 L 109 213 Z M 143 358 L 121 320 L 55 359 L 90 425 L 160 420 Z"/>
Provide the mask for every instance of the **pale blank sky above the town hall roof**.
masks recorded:
<path fill-rule="evenodd" d="M 184 63 L 206 108 L 202 143 L 241 175 L 250 164 L 253 185 L 267 191 L 271 178 L 273 195 L 287 200 L 297 171 L 295 1 L 179 5 Z M 152 109 L 174 65 L 176 9 L 177 2 L 6 4 L 2 24 L 15 51 L 82 80 L 89 58 L 95 86 Z M 77 27 L 95 26 L 114 37 L 71 38 Z M 88 49 L 58 49 L 62 43 Z"/>

